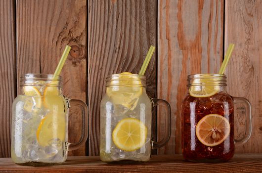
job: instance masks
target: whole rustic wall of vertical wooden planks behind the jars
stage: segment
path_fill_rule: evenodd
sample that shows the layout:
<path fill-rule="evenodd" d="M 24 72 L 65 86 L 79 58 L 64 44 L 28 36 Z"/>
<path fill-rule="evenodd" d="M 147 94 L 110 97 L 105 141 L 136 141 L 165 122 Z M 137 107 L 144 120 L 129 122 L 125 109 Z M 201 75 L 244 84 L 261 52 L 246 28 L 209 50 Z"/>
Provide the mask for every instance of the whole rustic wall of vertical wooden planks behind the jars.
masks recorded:
<path fill-rule="evenodd" d="M 23 73 L 53 73 L 66 44 L 63 92 L 89 105 L 86 146 L 70 155 L 99 154 L 99 103 L 107 75 L 137 73 L 157 45 L 146 72 L 147 92 L 172 106 L 172 136 L 159 154 L 181 153 L 180 105 L 191 73 L 217 73 L 229 43 L 228 91 L 253 106 L 253 134 L 236 149 L 262 152 L 262 0 L 0 0 L 0 157 L 10 157 L 11 103 Z M 87 19 L 88 18 L 88 19 Z M 88 30 L 88 33 L 87 33 Z M 88 45 L 88 46 L 87 46 Z M 81 115 L 71 108 L 69 141 Z M 164 110 L 153 115 L 154 138 L 164 135 Z M 244 119 L 236 115 L 236 136 Z"/>

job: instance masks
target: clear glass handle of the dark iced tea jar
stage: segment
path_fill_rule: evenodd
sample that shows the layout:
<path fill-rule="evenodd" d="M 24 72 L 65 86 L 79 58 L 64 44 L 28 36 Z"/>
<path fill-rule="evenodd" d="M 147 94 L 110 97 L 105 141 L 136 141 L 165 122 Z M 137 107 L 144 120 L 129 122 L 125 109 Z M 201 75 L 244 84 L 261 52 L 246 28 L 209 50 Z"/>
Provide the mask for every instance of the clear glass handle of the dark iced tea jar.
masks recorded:
<path fill-rule="evenodd" d="M 245 106 L 245 118 L 246 118 L 246 132 L 243 138 L 235 139 L 236 145 L 242 145 L 248 141 L 252 132 L 252 114 L 251 114 L 251 104 L 243 97 L 233 97 L 234 104 L 243 104 Z"/>

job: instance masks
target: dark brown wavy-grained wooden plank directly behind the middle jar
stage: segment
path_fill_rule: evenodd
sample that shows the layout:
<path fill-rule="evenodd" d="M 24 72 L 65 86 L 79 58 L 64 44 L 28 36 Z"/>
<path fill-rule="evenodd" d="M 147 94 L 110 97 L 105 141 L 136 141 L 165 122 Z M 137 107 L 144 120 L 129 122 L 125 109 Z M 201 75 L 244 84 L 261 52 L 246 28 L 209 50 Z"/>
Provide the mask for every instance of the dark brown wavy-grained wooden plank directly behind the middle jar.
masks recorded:
<path fill-rule="evenodd" d="M 150 45 L 156 45 L 157 0 L 89 0 L 88 100 L 89 152 L 99 154 L 100 100 L 105 78 L 137 74 Z M 147 92 L 156 95 L 155 56 L 146 71 Z M 154 120 L 153 120 L 154 121 Z M 153 128 L 156 125 L 153 124 Z"/>

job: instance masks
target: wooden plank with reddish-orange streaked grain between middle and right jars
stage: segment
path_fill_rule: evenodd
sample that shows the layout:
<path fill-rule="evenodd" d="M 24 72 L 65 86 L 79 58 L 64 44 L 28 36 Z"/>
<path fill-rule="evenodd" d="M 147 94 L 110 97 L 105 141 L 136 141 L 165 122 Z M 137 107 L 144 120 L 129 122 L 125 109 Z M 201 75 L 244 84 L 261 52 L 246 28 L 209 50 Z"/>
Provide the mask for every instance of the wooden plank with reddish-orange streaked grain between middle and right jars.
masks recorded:
<path fill-rule="evenodd" d="M 172 107 L 172 135 L 160 154 L 181 153 L 180 106 L 187 75 L 218 73 L 223 50 L 223 0 L 159 0 L 158 97 Z M 164 136 L 158 112 L 158 137 Z"/>

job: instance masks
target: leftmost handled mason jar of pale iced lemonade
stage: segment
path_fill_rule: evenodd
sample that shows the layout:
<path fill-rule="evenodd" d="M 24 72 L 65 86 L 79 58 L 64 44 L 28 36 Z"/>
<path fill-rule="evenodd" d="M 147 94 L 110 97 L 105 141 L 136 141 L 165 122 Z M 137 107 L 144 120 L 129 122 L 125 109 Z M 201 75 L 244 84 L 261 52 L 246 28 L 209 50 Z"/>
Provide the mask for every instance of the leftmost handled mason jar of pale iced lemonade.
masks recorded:
<path fill-rule="evenodd" d="M 12 105 L 11 157 L 22 165 L 62 163 L 67 151 L 77 149 L 87 140 L 87 105 L 66 99 L 62 78 L 48 74 L 25 74 L 21 91 Z M 67 142 L 68 109 L 82 109 L 83 134 L 78 143 Z"/>

